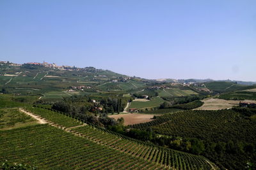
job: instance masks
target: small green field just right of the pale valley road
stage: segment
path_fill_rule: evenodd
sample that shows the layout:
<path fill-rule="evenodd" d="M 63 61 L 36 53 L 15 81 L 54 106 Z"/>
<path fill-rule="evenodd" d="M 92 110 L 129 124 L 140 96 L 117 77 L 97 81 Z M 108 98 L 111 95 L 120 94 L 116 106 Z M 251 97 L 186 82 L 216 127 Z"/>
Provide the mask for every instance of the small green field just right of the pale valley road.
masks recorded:
<path fill-rule="evenodd" d="M 129 108 L 154 108 L 160 106 L 160 104 L 162 104 L 163 102 L 164 100 L 161 97 L 152 97 L 150 101 L 132 101 Z"/>

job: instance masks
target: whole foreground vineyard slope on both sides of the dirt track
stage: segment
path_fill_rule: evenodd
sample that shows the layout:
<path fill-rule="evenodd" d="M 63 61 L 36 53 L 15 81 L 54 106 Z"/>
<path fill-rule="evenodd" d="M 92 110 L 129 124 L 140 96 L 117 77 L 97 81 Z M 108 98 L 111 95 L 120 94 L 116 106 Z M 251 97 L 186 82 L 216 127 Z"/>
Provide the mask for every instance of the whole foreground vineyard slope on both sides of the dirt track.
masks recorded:
<path fill-rule="evenodd" d="M 211 169 L 202 156 L 177 152 L 84 124 L 63 113 L 28 107 L 44 125 L 1 131 L 0 160 L 39 169 Z"/>

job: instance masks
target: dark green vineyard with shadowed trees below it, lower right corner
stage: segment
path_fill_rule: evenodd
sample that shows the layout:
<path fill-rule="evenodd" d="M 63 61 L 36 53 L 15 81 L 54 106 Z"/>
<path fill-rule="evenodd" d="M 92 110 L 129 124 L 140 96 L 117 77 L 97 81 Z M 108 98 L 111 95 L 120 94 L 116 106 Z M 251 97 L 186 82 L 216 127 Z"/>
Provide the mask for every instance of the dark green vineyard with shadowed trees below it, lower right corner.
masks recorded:
<path fill-rule="evenodd" d="M 151 122 L 130 127 L 151 127 L 156 134 L 179 137 L 180 143 L 191 143 L 191 153 L 200 146 L 200 149 L 197 148 L 198 153 L 211 159 L 221 168 L 244 169 L 247 162 L 256 163 L 255 115 L 253 111 L 247 110 L 245 114 L 244 110 L 238 108 L 216 111 L 189 110 L 164 114 Z M 172 146 L 170 145 L 170 148 Z M 175 149 L 186 150 L 184 145 L 175 146 Z"/>

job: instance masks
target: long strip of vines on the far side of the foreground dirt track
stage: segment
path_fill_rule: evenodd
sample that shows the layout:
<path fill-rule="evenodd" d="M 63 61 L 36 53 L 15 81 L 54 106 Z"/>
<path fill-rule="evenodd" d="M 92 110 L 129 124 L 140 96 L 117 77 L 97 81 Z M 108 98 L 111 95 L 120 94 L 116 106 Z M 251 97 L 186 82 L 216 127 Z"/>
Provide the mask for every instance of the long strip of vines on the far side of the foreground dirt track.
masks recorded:
<path fill-rule="evenodd" d="M 45 115 L 49 118 L 56 117 L 56 119 L 58 119 L 57 117 L 60 119 L 63 119 L 61 117 L 67 117 L 54 112 L 54 110 L 45 110 L 43 108 L 29 108 L 29 110 L 42 117 L 45 117 Z M 51 115 L 51 117 L 49 115 Z M 74 121 L 74 119 L 72 120 Z M 61 122 L 58 123 L 61 124 Z M 78 132 L 82 134 L 84 138 L 89 139 L 94 143 L 100 143 L 101 145 L 114 148 L 120 152 L 129 153 L 129 155 L 140 157 L 150 162 L 156 162 L 157 164 L 175 167 L 176 169 L 200 169 L 202 167 L 205 167 L 205 169 L 211 169 L 211 165 L 205 161 L 204 157 L 162 148 L 160 146 L 116 134 L 115 132 L 108 131 L 104 128 L 95 127 L 93 125 L 77 127 L 70 131 L 73 133 Z M 189 164 L 187 164 L 187 162 L 189 162 Z"/>

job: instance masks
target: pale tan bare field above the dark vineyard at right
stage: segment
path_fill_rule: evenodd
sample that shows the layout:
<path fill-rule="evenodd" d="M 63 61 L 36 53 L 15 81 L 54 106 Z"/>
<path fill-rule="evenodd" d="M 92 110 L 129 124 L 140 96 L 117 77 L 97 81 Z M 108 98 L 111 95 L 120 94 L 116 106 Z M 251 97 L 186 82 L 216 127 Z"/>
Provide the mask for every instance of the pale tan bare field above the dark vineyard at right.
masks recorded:
<path fill-rule="evenodd" d="M 207 98 L 202 100 L 204 102 L 203 106 L 196 108 L 195 110 L 223 110 L 232 108 L 233 106 L 238 106 L 239 102 L 252 102 L 255 103 L 256 101 L 244 100 L 244 101 L 226 101 L 223 99 L 213 99 Z"/>

